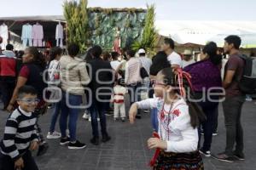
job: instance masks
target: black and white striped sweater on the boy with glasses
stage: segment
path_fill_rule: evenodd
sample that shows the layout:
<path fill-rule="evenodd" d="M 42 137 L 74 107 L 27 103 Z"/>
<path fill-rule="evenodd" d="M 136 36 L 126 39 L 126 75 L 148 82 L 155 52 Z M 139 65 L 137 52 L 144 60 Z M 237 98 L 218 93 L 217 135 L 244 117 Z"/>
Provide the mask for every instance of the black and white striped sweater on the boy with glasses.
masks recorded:
<path fill-rule="evenodd" d="M 3 155 L 10 156 L 14 161 L 18 160 L 32 141 L 38 141 L 36 130 L 37 116 L 32 112 L 16 109 L 8 118 L 0 142 L 0 150 Z"/>

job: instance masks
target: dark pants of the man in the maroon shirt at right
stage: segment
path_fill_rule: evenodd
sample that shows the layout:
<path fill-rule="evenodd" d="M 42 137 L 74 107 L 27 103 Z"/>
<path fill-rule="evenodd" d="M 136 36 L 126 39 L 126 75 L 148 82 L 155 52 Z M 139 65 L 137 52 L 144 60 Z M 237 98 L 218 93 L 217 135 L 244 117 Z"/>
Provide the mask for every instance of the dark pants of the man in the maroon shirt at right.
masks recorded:
<path fill-rule="evenodd" d="M 243 154 L 243 130 L 241 127 L 241 107 L 245 101 L 244 96 L 226 97 L 223 102 L 224 122 L 226 127 L 225 154 L 233 155 L 236 143 L 236 153 Z"/>

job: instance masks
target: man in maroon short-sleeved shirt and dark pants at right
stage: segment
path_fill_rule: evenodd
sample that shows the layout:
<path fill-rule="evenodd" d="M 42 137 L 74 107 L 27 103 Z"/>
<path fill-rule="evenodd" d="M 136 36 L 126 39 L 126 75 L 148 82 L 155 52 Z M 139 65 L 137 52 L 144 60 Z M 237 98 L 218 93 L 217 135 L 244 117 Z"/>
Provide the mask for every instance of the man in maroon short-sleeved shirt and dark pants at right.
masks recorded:
<path fill-rule="evenodd" d="M 240 58 L 239 47 L 241 38 L 229 36 L 224 39 L 224 52 L 230 58 L 225 65 L 223 87 L 225 100 L 223 102 L 224 122 L 226 127 L 226 148 L 223 153 L 215 156 L 220 161 L 233 162 L 234 159 L 244 160 L 243 131 L 241 127 L 241 107 L 245 96 L 241 93 L 238 80 L 241 79 L 244 61 Z M 233 150 L 236 143 L 236 149 Z"/>

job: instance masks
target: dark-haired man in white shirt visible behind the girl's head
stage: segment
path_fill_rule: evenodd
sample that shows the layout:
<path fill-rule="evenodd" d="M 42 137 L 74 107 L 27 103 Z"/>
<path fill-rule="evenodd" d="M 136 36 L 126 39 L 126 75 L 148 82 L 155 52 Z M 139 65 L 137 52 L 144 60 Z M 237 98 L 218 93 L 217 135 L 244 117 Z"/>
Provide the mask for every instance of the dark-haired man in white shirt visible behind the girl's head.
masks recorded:
<path fill-rule="evenodd" d="M 182 59 L 180 55 L 174 51 L 175 45 L 172 38 L 165 38 L 161 48 L 168 55 L 167 59 L 170 62 L 172 68 L 180 67 L 182 65 Z"/>

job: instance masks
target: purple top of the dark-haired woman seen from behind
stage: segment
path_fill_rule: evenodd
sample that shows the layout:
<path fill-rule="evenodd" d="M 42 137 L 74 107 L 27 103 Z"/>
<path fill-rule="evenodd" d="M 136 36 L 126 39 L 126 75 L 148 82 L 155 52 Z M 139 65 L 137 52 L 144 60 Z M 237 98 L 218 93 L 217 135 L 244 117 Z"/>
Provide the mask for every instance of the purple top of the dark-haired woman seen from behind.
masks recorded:
<path fill-rule="evenodd" d="M 188 65 L 183 70 L 191 75 L 191 82 L 195 92 L 202 92 L 203 88 L 207 90 L 213 87 L 222 87 L 218 65 L 213 65 L 209 59 Z"/>

